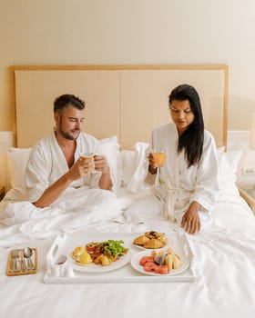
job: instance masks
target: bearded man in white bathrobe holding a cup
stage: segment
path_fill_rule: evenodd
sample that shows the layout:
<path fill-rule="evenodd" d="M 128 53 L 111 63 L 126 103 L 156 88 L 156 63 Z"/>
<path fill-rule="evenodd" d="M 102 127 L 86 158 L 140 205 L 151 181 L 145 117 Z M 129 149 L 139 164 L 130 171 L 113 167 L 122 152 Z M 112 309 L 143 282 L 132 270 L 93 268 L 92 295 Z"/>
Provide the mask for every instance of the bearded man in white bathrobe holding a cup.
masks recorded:
<path fill-rule="evenodd" d="M 26 167 L 28 201 L 36 207 L 53 204 L 69 186 L 111 189 L 107 158 L 80 158 L 84 152 L 97 154 L 98 148 L 95 137 L 81 133 L 84 109 L 85 102 L 73 94 L 63 94 L 54 102 L 55 130 L 32 149 Z"/>

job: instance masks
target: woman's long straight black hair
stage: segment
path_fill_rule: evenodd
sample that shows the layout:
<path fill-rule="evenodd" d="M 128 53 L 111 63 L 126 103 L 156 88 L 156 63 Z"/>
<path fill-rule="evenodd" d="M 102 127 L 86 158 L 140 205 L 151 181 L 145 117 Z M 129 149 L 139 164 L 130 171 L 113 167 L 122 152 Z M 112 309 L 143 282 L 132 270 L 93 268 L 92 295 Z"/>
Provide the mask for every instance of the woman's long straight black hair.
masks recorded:
<path fill-rule="evenodd" d="M 194 114 L 194 121 L 189 124 L 188 129 L 180 135 L 178 153 L 185 152 L 188 167 L 199 164 L 204 144 L 204 120 L 196 89 L 189 84 L 180 84 L 174 88 L 169 95 L 169 107 L 173 100 L 189 100 L 191 112 Z"/>

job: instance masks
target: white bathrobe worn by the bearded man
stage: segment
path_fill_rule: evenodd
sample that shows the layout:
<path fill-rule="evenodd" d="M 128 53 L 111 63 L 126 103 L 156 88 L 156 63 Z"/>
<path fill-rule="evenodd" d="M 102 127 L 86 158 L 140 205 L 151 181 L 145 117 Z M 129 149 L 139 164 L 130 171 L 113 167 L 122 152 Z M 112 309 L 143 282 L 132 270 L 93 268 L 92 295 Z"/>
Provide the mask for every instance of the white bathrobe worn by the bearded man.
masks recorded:
<path fill-rule="evenodd" d="M 99 142 L 95 137 L 85 133 L 79 134 L 76 139 L 75 162 L 80 153 L 97 154 L 98 147 Z M 38 200 L 46 188 L 54 184 L 68 170 L 66 157 L 59 144 L 57 144 L 55 133 L 52 132 L 52 134 L 40 140 L 31 151 L 25 176 L 27 200 L 29 202 Z M 100 175 L 101 173 L 87 174 L 69 186 L 78 188 L 87 185 L 89 188 L 97 188 Z"/>

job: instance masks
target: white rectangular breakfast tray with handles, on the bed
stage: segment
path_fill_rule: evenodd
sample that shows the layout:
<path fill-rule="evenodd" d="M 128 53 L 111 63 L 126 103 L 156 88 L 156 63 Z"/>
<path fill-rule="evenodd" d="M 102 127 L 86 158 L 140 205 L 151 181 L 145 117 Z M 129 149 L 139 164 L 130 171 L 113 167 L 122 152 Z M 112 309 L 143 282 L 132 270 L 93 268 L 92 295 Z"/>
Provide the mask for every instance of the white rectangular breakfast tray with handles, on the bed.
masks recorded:
<path fill-rule="evenodd" d="M 139 273 L 130 263 L 127 263 L 117 270 L 106 273 L 82 273 L 76 272 L 74 277 L 56 277 L 46 271 L 45 283 L 168 283 L 168 282 L 192 282 L 196 276 L 194 269 L 194 255 L 189 245 L 186 234 L 173 232 L 166 233 L 169 244 L 174 253 L 178 253 L 181 258 L 185 258 L 185 262 L 189 262 L 189 267 L 182 273 L 175 275 L 148 275 Z M 132 244 L 134 238 L 138 234 L 120 234 L 120 233 L 102 233 L 102 234 L 70 234 L 64 236 L 56 236 L 55 242 L 52 244 L 46 255 L 48 266 L 54 263 L 54 260 L 60 254 L 66 254 L 67 263 L 72 266 L 73 260 L 71 253 L 78 245 L 85 245 L 88 242 L 102 242 L 109 239 L 123 240 L 124 246 L 128 247 L 130 259 L 133 255 L 140 253 L 141 250 Z"/>

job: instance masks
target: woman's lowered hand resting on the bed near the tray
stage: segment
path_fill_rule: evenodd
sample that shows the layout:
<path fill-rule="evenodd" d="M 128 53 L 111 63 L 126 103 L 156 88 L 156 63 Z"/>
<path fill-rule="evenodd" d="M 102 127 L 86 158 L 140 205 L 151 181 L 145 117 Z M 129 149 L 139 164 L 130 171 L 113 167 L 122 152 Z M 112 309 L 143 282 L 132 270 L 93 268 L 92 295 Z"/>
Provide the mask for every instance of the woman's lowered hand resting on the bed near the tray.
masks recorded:
<path fill-rule="evenodd" d="M 180 226 L 189 234 L 199 233 L 201 222 L 199 218 L 199 204 L 197 202 L 194 201 L 189 205 L 189 209 L 182 217 Z"/>

